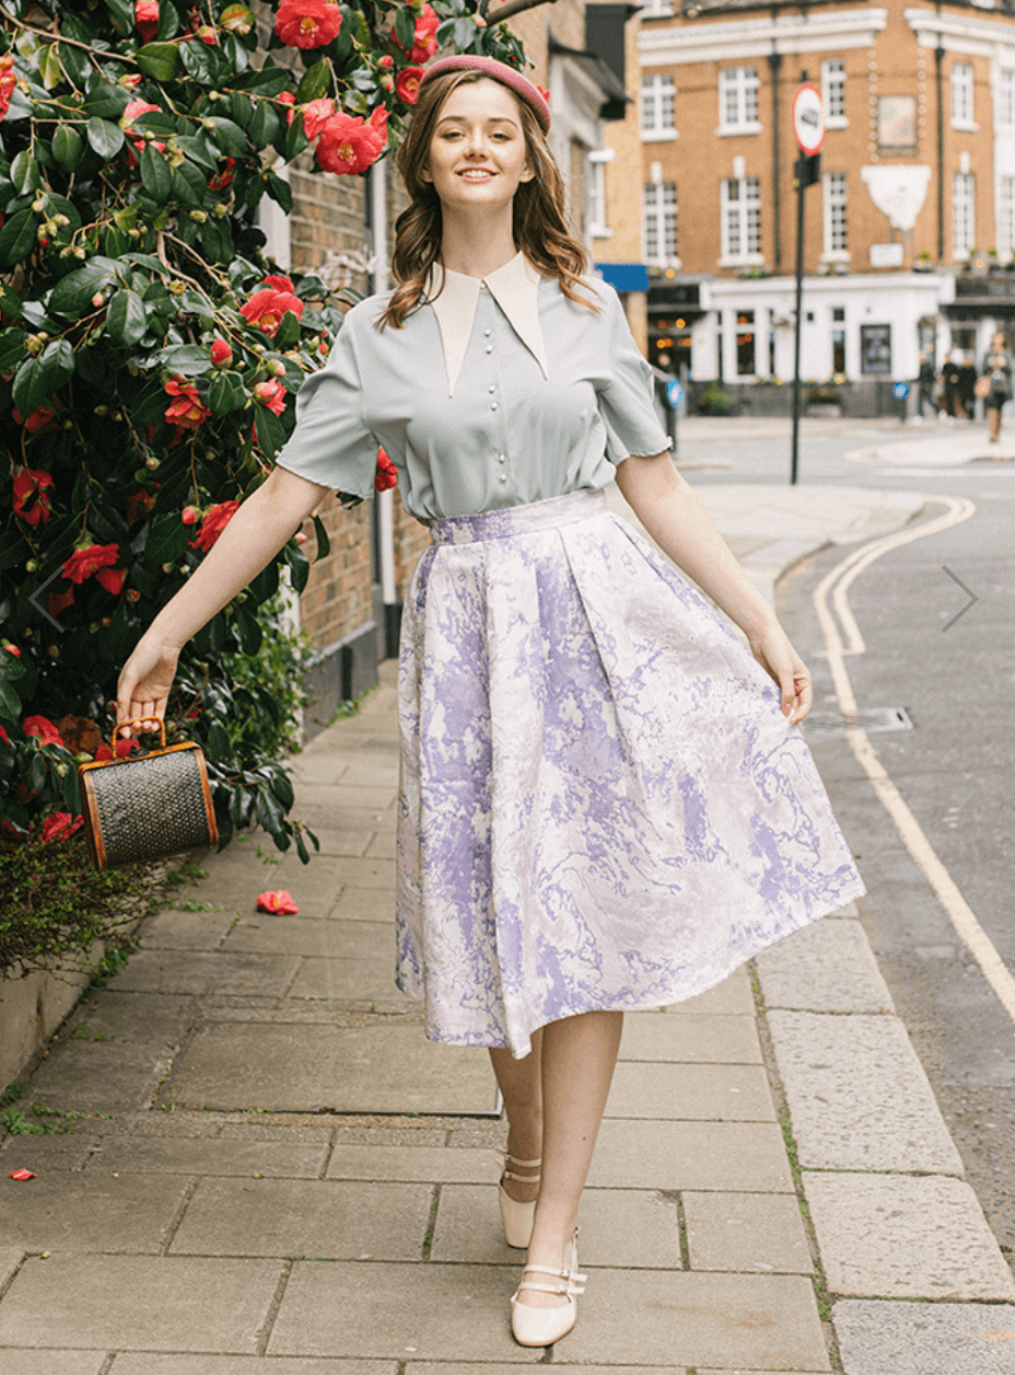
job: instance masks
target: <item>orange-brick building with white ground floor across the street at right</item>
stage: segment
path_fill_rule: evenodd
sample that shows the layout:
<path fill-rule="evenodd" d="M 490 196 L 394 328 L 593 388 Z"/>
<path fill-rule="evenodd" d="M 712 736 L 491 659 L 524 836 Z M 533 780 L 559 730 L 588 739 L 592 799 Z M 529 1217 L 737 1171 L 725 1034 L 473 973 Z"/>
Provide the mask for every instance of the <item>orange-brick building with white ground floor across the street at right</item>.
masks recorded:
<path fill-rule="evenodd" d="M 1011 0 L 648 0 L 633 45 L 643 187 L 611 213 L 640 226 L 628 261 L 651 274 L 658 366 L 791 375 L 802 80 L 828 125 L 805 201 L 805 377 L 875 404 L 920 349 L 979 356 L 1015 322 Z"/>

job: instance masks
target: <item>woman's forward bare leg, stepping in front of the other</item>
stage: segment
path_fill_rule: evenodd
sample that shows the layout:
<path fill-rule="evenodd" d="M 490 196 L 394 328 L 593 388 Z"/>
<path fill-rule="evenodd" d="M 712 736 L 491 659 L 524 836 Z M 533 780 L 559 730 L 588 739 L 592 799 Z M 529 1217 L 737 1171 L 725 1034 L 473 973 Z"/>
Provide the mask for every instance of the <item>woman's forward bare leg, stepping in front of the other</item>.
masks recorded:
<path fill-rule="evenodd" d="M 543 1187 L 529 1260 L 559 1266 L 578 1222 L 624 1030 L 622 1012 L 584 1012 L 543 1027 Z M 522 1290 L 521 1302 L 554 1308 L 556 1294 Z"/>

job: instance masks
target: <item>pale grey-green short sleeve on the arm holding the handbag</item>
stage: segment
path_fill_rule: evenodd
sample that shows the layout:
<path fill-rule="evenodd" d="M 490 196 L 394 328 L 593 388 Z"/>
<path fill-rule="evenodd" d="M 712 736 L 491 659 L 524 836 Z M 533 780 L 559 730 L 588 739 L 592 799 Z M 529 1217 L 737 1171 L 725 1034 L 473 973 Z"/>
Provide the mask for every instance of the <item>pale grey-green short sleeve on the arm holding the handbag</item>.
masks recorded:
<path fill-rule="evenodd" d="M 297 393 L 297 426 L 276 465 L 349 496 L 372 495 L 378 441 L 363 418 L 363 402 L 354 330 L 346 318 L 327 364 Z"/>

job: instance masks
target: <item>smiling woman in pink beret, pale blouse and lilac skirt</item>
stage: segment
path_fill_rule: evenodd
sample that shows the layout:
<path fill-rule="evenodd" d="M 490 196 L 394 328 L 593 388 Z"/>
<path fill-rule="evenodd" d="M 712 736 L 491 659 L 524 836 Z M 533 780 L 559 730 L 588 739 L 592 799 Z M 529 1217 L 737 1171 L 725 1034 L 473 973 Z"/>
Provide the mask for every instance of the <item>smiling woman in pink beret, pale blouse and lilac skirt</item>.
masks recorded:
<path fill-rule="evenodd" d="M 674 470 L 615 293 L 580 275 L 548 128 L 511 67 L 429 69 L 398 153 L 400 285 L 349 312 L 118 698 L 119 719 L 161 714 L 180 646 L 328 491 L 368 495 L 383 444 L 433 528 L 402 624 L 397 983 L 433 1040 L 489 1048 L 526 1346 L 574 1324 L 624 1009 L 700 993 L 863 891 L 795 729 L 810 675 Z M 753 657 L 607 513 L 614 476 Z"/>

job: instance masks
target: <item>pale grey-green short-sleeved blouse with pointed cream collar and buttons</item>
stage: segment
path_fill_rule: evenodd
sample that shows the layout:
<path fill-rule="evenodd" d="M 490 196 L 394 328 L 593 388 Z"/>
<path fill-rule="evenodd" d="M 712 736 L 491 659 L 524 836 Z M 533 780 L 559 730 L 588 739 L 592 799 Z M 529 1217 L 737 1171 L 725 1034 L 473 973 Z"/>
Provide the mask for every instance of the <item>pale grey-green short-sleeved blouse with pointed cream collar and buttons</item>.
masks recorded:
<path fill-rule="evenodd" d="M 606 487 L 670 441 L 617 293 L 582 282 L 599 312 L 521 253 L 482 282 L 444 274 L 400 330 L 375 323 L 390 296 L 361 301 L 304 382 L 279 466 L 363 498 L 383 446 L 423 521 Z"/>

